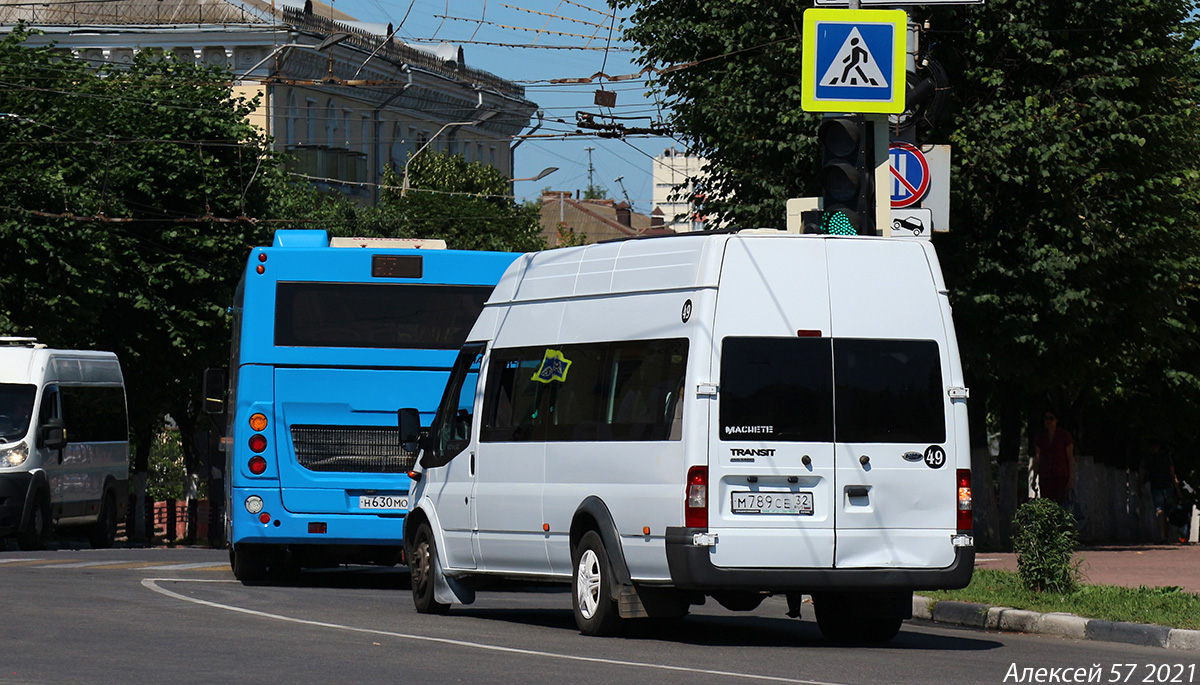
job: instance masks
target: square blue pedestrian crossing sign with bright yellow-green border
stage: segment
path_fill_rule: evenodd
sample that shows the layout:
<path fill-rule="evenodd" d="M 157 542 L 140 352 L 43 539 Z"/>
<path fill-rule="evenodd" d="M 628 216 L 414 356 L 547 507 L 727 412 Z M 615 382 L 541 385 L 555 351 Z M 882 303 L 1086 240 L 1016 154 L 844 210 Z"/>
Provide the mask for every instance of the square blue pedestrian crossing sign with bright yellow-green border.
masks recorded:
<path fill-rule="evenodd" d="M 805 10 L 804 110 L 904 112 L 907 24 L 904 10 Z"/>

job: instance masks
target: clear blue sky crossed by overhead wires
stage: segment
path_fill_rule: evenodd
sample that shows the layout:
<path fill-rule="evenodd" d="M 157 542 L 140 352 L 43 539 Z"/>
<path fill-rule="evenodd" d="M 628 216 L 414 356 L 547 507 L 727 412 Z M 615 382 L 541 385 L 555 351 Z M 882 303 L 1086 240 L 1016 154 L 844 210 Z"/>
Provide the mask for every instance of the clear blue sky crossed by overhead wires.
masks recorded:
<path fill-rule="evenodd" d="M 574 132 L 576 112 L 601 112 L 594 103 L 599 82 L 565 85 L 547 80 L 641 70 L 632 64 L 630 44 L 620 41 L 625 17 L 618 14 L 613 26 L 605 0 L 334 0 L 332 5 L 362 22 L 398 25 L 396 38 L 418 47 L 432 47 L 438 41 L 462 46 L 467 66 L 524 85 L 526 98 L 545 110 L 545 124 L 536 133 Z M 594 49 L 548 49 L 551 46 Z M 625 121 L 626 126 L 658 121 L 666 112 L 647 96 L 644 84 L 644 78 L 606 83 L 606 90 L 617 91 L 617 106 L 602 112 L 646 118 Z M 559 119 L 566 124 L 558 124 Z M 530 127 L 535 121 L 530 120 Z M 535 199 L 546 187 L 582 191 L 588 186 L 586 148 L 593 148 L 593 182 L 610 198 L 624 199 L 628 194 L 635 211 L 649 214 L 650 158 L 672 146 L 683 150 L 683 145 L 664 137 L 530 138 L 516 150 L 514 178 L 535 176 L 547 167 L 559 170 L 540 181 L 518 181 L 515 192 L 518 199 Z"/>

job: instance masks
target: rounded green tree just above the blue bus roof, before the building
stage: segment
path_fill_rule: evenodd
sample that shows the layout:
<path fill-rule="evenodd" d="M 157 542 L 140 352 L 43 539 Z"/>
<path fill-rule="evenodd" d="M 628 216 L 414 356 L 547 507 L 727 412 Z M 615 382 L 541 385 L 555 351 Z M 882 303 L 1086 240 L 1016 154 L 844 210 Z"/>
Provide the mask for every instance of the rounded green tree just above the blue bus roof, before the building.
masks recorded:
<path fill-rule="evenodd" d="M 512 198 L 509 178 L 462 155 L 426 152 L 408 164 L 409 190 L 402 193 L 394 169 L 377 211 L 365 212 L 365 235 L 440 238 L 452 250 L 528 252 L 542 250 L 536 206 Z"/>

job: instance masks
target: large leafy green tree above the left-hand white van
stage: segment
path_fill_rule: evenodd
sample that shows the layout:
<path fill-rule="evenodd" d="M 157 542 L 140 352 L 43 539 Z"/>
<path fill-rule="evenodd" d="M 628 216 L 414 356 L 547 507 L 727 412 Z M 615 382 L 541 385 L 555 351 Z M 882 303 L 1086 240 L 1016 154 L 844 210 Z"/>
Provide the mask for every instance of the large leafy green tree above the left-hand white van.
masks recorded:
<path fill-rule="evenodd" d="M 0 42 L 0 320 L 120 355 L 145 474 L 163 416 L 186 432 L 200 371 L 228 354 L 275 160 L 228 72 L 146 52 L 94 71 L 29 35 Z"/>

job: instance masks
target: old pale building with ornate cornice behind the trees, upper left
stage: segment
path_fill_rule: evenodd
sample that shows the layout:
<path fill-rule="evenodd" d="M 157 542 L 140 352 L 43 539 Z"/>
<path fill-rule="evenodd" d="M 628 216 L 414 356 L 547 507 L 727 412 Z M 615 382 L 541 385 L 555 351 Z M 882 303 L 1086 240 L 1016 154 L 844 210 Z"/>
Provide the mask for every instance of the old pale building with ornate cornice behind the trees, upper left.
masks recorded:
<path fill-rule="evenodd" d="M 44 32 L 31 44 L 96 65 L 152 50 L 229 68 L 236 94 L 260 96 L 252 121 L 293 157 L 288 170 L 362 203 L 378 200 L 386 164 L 403 170 L 426 143 L 511 176 L 512 137 L 536 110 L 458 46 L 402 43 L 313 0 L 0 0 L 0 32 L 19 20 Z"/>

